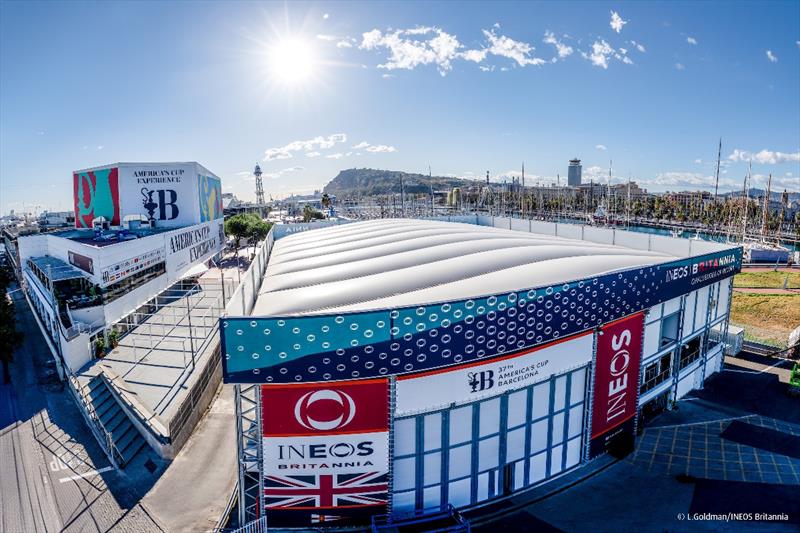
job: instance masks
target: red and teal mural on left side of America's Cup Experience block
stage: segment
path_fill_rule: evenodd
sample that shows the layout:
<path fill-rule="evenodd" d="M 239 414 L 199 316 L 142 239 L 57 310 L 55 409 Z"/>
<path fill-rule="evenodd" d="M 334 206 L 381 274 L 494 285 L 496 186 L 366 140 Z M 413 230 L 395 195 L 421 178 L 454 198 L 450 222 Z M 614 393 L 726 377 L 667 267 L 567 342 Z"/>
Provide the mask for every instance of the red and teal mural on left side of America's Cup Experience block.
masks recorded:
<path fill-rule="evenodd" d="M 92 220 L 97 217 L 105 217 L 112 226 L 119 226 L 119 170 L 115 167 L 76 172 L 72 178 L 75 227 L 91 228 Z"/>

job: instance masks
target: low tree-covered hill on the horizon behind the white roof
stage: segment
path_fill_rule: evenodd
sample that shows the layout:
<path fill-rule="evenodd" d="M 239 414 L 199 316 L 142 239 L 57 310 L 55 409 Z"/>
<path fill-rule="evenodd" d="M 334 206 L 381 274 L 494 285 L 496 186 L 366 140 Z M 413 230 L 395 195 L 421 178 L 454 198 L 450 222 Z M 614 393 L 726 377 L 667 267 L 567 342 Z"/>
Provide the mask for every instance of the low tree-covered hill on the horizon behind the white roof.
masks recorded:
<path fill-rule="evenodd" d="M 350 168 L 342 170 L 323 189 L 323 192 L 336 196 L 358 194 L 362 196 L 392 194 L 400 192 L 400 182 L 407 194 L 426 194 L 431 184 L 435 191 L 450 190 L 453 187 L 475 185 L 473 180 L 447 176 L 428 177 L 399 170 L 379 170 L 375 168 Z"/>

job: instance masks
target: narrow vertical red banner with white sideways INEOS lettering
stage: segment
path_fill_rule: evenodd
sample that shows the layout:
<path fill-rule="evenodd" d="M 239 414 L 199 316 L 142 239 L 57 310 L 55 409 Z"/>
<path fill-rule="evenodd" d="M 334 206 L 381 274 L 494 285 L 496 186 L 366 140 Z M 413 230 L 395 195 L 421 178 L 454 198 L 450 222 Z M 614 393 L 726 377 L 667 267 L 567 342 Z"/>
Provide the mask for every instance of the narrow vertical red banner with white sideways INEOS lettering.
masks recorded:
<path fill-rule="evenodd" d="M 592 456 L 608 451 L 610 440 L 621 433 L 632 437 L 614 430 L 636 416 L 643 330 L 644 313 L 636 313 L 603 326 L 597 335 Z"/>

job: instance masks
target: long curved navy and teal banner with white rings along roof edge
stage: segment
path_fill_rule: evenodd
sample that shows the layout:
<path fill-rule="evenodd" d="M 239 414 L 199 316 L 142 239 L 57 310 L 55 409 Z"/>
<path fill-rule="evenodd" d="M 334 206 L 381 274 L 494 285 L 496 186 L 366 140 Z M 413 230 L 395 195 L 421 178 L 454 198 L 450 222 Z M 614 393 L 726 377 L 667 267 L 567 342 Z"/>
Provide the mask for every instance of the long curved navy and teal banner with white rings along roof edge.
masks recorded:
<path fill-rule="evenodd" d="M 591 258 L 587 258 L 591 261 Z M 595 328 L 733 276 L 742 249 L 469 300 L 312 317 L 220 320 L 225 383 L 406 374 Z"/>

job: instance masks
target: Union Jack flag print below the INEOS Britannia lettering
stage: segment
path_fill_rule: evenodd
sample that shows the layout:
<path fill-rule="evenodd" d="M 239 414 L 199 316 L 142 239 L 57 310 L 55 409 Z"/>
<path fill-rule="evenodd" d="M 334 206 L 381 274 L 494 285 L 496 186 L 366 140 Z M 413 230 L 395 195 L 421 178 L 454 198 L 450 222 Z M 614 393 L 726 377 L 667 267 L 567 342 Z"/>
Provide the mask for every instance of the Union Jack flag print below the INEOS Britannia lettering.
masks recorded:
<path fill-rule="evenodd" d="M 388 493 L 386 472 L 264 477 L 268 509 L 382 506 L 386 505 Z"/>

